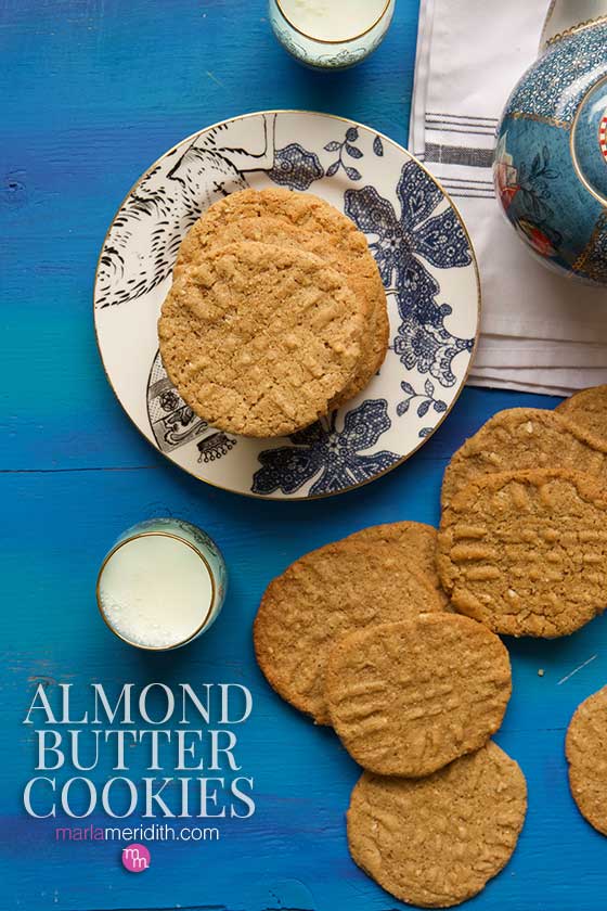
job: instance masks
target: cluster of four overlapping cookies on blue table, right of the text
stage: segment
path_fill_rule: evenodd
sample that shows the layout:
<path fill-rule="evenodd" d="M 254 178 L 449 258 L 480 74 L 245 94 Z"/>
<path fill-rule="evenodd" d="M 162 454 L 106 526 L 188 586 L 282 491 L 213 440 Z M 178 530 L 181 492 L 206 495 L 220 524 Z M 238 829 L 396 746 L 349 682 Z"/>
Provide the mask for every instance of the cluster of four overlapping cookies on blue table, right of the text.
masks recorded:
<path fill-rule="evenodd" d="M 436 529 L 402 522 L 313 551 L 270 583 L 254 636 L 271 685 L 333 724 L 365 769 L 348 811 L 353 859 L 424 907 L 482 889 L 527 806 L 522 772 L 490 740 L 511 696 L 508 654 L 450 611 L 436 544 Z"/>

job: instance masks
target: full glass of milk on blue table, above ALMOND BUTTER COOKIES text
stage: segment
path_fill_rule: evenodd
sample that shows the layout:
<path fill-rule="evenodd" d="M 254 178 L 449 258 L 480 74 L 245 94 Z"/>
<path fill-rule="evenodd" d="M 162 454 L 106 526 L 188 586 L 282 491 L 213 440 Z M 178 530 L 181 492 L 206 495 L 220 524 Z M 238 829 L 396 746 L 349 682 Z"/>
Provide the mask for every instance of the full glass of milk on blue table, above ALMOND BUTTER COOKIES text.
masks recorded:
<path fill-rule="evenodd" d="M 165 651 L 206 632 L 225 586 L 225 563 L 206 533 L 181 519 L 154 518 L 120 535 L 102 563 L 96 600 L 124 642 Z"/>

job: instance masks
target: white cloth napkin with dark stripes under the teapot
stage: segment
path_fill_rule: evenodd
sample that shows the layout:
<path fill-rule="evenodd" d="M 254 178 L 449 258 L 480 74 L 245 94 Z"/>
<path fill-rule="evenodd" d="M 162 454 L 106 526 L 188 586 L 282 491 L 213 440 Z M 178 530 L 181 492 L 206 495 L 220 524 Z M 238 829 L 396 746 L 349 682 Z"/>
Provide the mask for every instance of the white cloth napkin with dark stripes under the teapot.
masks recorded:
<path fill-rule="evenodd" d="M 567 395 L 607 383 L 607 290 L 554 274 L 494 198 L 495 127 L 534 61 L 547 0 L 422 0 L 411 151 L 460 208 L 482 284 L 473 385 Z"/>

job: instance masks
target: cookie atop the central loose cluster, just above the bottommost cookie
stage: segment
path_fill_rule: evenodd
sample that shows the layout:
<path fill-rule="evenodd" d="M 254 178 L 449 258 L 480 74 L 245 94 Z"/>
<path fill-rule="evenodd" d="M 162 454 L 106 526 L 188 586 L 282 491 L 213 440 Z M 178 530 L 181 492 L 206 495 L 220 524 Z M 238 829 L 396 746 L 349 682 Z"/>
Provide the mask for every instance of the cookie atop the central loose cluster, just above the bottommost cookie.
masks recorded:
<path fill-rule="evenodd" d="M 406 778 L 483 746 L 511 692 L 501 640 L 454 614 L 352 632 L 332 650 L 325 681 L 331 721 L 352 759 Z"/>

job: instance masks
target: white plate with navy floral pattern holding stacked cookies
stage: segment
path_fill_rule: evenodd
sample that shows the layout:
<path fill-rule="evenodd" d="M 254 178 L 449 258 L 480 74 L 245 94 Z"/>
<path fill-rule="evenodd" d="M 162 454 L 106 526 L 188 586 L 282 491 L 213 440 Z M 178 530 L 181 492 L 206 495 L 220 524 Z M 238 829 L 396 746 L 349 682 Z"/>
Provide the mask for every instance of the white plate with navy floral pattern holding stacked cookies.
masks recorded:
<path fill-rule="evenodd" d="M 156 321 L 181 239 L 212 202 L 245 187 L 312 192 L 369 239 L 386 285 L 390 343 L 358 398 L 288 438 L 209 427 L 158 357 Z M 120 206 L 99 259 L 94 319 L 127 414 L 172 462 L 238 493 L 339 493 L 408 459 L 466 380 L 479 328 L 476 260 L 462 219 L 425 168 L 369 127 L 327 114 L 248 114 L 184 139 Z"/>

